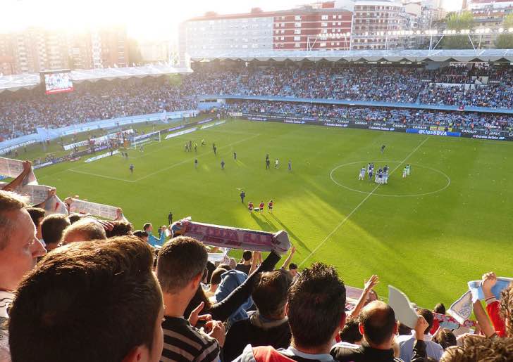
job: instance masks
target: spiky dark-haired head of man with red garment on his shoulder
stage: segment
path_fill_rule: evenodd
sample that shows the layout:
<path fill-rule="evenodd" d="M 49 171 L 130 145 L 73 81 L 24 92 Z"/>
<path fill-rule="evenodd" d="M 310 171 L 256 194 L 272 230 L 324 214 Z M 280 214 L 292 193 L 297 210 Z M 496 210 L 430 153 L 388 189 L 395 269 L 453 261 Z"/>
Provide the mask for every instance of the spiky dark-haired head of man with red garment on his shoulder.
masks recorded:
<path fill-rule="evenodd" d="M 327 349 L 345 322 L 345 286 L 332 266 L 316 263 L 290 287 L 287 313 L 292 344 L 298 349 Z"/>

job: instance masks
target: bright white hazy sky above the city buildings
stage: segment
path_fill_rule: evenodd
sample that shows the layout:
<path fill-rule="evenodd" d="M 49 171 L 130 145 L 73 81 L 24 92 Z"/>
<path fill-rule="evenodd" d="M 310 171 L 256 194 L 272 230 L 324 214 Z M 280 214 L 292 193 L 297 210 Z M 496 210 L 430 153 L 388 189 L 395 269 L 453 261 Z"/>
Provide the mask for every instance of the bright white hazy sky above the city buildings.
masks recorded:
<path fill-rule="evenodd" d="M 247 13 L 293 8 L 308 0 L 0 0 L 0 32 L 43 26 L 80 31 L 87 26 L 127 25 L 128 35 L 140 41 L 173 39 L 178 24 L 206 11 Z M 181 3 L 181 4 L 180 4 Z M 460 0 L 443 0 L 448 11 L 461 8 Z"/>

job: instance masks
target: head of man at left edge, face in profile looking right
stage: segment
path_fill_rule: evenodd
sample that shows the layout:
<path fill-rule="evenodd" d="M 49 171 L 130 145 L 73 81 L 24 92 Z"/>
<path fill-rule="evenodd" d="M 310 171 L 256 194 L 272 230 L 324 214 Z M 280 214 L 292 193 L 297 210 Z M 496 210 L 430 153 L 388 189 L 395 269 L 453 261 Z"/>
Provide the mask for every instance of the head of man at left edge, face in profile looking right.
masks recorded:
<path fill-rule="evenodd" d="M 25 199 L 0 190 L 0 287 L 16 290 L 23 275 L 46 253 L 25 209 Z"/>

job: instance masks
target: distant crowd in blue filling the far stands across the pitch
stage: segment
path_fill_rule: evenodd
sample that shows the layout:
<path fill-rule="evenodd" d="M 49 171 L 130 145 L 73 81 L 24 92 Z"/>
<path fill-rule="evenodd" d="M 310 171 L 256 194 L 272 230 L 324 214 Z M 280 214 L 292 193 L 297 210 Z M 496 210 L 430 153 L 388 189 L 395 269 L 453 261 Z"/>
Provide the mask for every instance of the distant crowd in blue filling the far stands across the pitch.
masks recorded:
<path fill-rule="evenodd" d="M 259 66 L 243 62 L 199 63 L 181 84 L 166 77 L 83 82 L 72 93 L 52 96 L 40 89 L 0 94 L 0 141 L 32 134 L 36 127 L 58 128 L 99 119 L 198 108 L 197 96 L 288 96 L 325 100 L 414 103 L 512 109 L 511 67 L 456 64 L 435 70 L 405 65 Z M 269 103 L 260 103 L 260 105 Z M 273 106 L 275 108 L 276 106 Z M 306 108 L 305 106 L 302 106 Z M 317 112 L 312 106 L 306 112 Z M 347 117 L 367 114 L 361 108 L 338 108 Z M 486 124 L 510 122 L 500 115 L 455 115 L 449 112 L 390 111 L 370 108 L 373 118 L 421 118 L 424 122 Z M 332 110 L 333 111 L 333 110 Z"/>

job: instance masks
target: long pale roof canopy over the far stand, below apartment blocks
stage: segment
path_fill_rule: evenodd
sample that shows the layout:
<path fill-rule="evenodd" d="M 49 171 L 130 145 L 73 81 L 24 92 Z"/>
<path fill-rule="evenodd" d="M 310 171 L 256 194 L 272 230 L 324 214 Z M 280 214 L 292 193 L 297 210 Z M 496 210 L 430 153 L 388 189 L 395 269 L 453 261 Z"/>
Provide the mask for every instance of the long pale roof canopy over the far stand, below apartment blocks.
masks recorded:
<path fill-rule="evenodd" d="M 254 51 L 254 50 L 235 50 L 229 53 L 205 53 L 202 56 L 192 56 L 193 61 L 206 60 L 276 60 L 278 62 L 285 60 L 328 60 L 347 62 L 366 61 L 366 62 L 496 62 L 506 61 L 513 63 L 513 49 L 443 49 L 443 50 L 364 50 L 364 51 Z"/>

